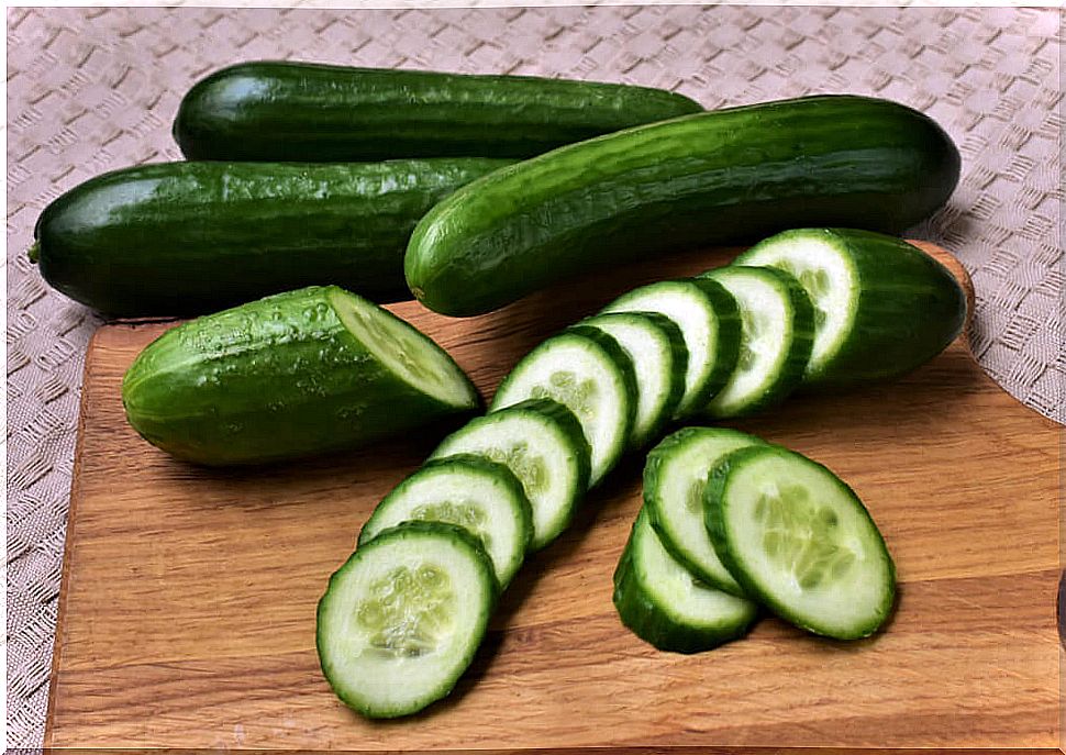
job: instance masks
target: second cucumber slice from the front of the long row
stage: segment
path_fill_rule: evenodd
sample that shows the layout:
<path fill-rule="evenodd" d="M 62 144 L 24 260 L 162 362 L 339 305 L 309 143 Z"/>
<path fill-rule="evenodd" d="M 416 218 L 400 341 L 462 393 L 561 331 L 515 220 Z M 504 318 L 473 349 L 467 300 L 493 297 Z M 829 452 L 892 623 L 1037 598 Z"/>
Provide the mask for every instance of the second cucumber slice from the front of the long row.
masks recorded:
<path fill-rule="evenodd" d="M 522 565 L 533 539 L 533 510 L 514 473 L 473 455 L 427 462 L 400 482 L 363 525 L 359 545 L 406 521 L 466 529 L 481 541 L 501 587 Z"/>

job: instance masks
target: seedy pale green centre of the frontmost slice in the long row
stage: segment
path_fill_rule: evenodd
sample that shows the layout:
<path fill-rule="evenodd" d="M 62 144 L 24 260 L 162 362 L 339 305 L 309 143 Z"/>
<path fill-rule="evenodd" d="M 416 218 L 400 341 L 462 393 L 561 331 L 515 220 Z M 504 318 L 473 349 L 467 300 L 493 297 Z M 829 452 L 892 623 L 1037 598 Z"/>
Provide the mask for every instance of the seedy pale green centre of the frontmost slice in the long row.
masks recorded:
<path fill-rule="evenodd" d="M 398 566 L 370 582 L 355 606 L 356 624 L 371 649 L 418 657 L 434 651 L 451 631 L 455 599 L 452 580 L 438 566 Z"/>

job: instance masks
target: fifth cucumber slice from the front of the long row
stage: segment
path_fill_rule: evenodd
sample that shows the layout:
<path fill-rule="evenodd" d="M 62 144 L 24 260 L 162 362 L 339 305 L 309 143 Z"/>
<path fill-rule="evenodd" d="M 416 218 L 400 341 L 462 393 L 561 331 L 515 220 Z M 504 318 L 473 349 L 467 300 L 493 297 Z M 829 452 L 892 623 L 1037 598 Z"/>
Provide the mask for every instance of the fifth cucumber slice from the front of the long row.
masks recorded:
<path fill-rule="evenodd" d="M 571 330 L 595 327 L 614 338 L 633 363 L 636 415 L 630 448 L 642 448 L 659 435 L 685 392 L 688 351 L 681 331 L 655 312 L 610 312 L 580 321 Z"/>

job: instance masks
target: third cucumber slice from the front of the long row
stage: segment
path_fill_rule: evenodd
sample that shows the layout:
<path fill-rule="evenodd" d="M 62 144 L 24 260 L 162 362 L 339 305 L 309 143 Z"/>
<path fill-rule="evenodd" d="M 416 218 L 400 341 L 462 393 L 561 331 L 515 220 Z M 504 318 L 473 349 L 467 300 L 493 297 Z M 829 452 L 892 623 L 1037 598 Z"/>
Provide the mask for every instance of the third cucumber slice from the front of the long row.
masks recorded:
<path fill-rule="evenodd" d="M 531 548 L 555 540 L 588 488 L 589 446 L 577 418 L 551 399 L 532 399 L 470 420 L 430 458 L 476 454 L 506 465 L 533 509 Z"/>

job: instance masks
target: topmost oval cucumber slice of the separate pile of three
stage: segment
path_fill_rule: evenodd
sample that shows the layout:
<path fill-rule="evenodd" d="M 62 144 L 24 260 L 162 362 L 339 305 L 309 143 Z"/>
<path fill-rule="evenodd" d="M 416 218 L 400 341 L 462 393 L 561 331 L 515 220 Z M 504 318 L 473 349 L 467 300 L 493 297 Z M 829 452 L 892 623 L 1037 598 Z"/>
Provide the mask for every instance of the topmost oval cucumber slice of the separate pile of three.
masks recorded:
<path fill-rule="evenodd" d="M 782 619 L 854 640 L 888 618 L 892 558 L 863 502 L 821 464 L 779 446 L 741 448 L 711 473 L 704 509 L 730 571 Z"/>

